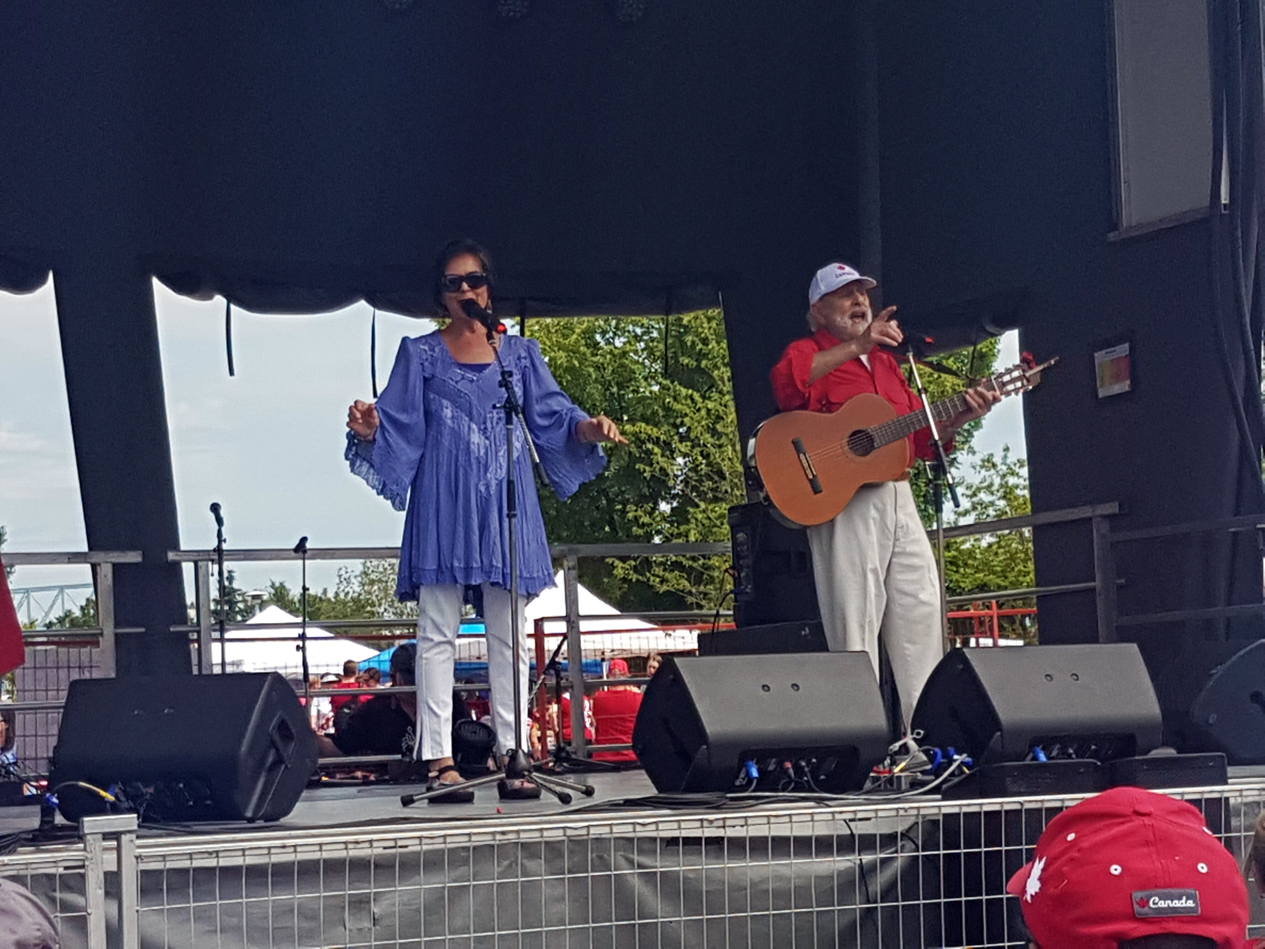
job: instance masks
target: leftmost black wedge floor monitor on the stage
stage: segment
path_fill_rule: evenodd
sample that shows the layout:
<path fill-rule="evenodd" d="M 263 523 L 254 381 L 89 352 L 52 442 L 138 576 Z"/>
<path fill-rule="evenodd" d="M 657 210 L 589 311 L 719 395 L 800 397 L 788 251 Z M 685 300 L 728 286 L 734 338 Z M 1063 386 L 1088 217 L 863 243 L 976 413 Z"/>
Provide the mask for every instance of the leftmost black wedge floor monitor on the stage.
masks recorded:
<path fill-rule="evenodd" d="M 116 788 L 147 821 L 278 820 L 316 759 L 299 696 L 276 672 L 81 678 L 66 695 L 48 785 Z M 59 800 L 67 820 L 106 806 L 95 795 Z"/>

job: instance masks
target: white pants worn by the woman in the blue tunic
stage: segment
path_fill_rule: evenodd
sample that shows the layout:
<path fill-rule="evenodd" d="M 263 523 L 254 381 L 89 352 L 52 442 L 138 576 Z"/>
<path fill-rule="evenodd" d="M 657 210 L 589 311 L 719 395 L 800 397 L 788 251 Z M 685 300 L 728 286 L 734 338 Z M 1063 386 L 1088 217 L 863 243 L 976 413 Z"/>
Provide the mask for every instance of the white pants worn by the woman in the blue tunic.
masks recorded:
<path fill-rule="evenodd" d="M 453 753 L 453 661 L 462 624 L 460 586 L 423 586 L 417 591 L 417 752 L 421 760 Z M 526 597 L 519 595 L 519 633 L 526 636 L 522 615 Z M 510 591 L 483 585 L 487 624 L 487 672 L 492 687 L 492 725 L 497 752 L 528 748 L 528 650 L 519 653 L 519 686 L 524 704 L 522 735 L 514 740 L 514 642 L 510 639 Z"/>

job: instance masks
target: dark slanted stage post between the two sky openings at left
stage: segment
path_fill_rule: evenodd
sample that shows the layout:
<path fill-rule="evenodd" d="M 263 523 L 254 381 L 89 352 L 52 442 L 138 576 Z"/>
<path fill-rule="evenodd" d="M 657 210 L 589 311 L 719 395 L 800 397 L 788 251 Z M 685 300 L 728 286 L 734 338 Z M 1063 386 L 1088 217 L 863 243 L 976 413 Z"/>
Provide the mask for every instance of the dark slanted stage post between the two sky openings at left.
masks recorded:
<path fill-rule="evenodd" d="M 167 405 L 151 278 L 86 251 L 54 271 L 75 461 L 90 550 L 140 550 L 114 572 L 119 676 L 188 673 L 187 623 Z"/>

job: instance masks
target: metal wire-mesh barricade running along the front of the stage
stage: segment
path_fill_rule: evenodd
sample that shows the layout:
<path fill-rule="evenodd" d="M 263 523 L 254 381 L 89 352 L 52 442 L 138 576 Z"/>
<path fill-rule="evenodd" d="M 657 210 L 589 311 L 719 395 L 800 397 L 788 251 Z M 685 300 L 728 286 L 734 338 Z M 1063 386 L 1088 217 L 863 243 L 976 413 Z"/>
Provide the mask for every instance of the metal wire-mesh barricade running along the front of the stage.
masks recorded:
<path fill-rule="evenodd" d="M 1243 859 L 1265 786 L 1173 795 Z M 1007 878 L 1083 797 L 573 811 L 167 834 L 134 849 L 114 829 L 118 841 L 97 831 L 0 858 L 0 877 L 44 900 L 67 948 L 999 949 L 1022 945 Z"/>

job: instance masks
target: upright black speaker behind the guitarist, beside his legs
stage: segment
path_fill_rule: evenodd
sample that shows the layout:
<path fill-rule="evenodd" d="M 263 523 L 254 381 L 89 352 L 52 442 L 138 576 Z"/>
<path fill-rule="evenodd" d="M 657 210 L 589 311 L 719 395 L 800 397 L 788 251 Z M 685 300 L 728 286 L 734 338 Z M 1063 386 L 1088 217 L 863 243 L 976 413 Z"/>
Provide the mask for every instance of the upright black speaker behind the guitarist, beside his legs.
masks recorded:
<path fill-rule="evenodd" d="M 729 531 L 734 549 L 735 624 L 755 626 L 821 617 L 812 552 L 803 529 L 781 523 L 767 504 L 740 504 L 729 509 Z"/>

